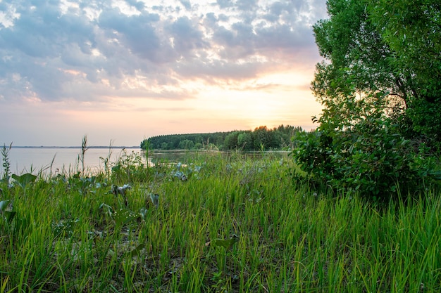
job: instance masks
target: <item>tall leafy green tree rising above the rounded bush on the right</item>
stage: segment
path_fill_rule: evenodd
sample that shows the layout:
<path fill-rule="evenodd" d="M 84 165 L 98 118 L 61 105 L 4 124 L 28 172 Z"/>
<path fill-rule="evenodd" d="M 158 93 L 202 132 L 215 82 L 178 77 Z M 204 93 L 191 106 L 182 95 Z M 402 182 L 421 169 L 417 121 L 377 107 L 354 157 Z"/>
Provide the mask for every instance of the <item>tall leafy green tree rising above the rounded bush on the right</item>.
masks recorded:
<path fill-rule="evenodd" d="M 345 109 L 341 99 L 367 100 L 382 93 L 387 96 L 385 112 L 405 118 L 407 132 L 437 141 L 441 133 L 440 6 L 434 0 L 329 0 L 330 18 L 314 26 L 325 58 L 317 65 L 312 83 L 318 100 L 325 108 L 330 105 L 328 110 L 333 105 Z"/>

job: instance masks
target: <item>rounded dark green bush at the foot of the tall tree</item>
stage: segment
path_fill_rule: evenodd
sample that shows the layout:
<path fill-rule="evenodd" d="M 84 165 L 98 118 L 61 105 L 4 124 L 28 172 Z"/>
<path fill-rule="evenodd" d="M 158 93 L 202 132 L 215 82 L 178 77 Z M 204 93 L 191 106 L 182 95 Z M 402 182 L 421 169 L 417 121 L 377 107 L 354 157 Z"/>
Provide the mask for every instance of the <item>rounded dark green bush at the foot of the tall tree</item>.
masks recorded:
<path fill-rule="evenodd" d="M 366 110 L 366 105 L 352 105 L 352 112 L 368 114 L 347 119 L 351 124 L 323 115 L 316 131 L 295 136 L 292 155 L 309 180 L 375 200 L 405 197 L 439 180 L 430 149 L 424 143 L 414 145 L 400 134 L 399 124 L 380 115 L 380 109 Z"/>

